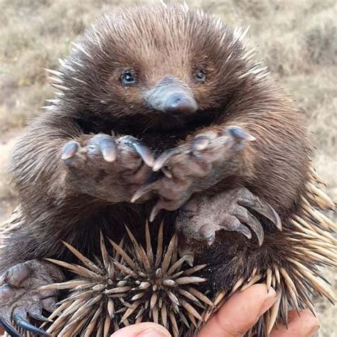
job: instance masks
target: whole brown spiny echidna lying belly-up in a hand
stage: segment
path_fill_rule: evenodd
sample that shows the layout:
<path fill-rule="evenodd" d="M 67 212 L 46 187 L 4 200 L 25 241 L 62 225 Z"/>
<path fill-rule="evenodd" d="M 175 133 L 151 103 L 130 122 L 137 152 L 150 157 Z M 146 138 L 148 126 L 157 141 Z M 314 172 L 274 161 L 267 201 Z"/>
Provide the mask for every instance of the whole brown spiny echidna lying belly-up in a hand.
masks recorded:
<path fill-rule="evenodd" d="M 258 336 L 267 336 L 275 321 L 287 323 L 289 306 L 313 310 L 311 294 L 333 301 L 319 269 L 335 264 L 336 242 L 329 232 L 336 226 L 319 208 L 334 208 L 334 203 L 316 187 L 301 114 L 254 60 L 255 52 L 246 49 L 246 35 L 247 29 L 231 31 L 215 16 L 186 5 L 135 6 L 101 18 L 61 60 L 60 70 L 48 70 L 58 98 L 28 127 L 11 158 L 21 220 L 2 249 L 6 284 L 0 286 L 0 318 L 34 331 L 25 323 L 32 307 L 50 306 L 38 306 L 48 288 L 36 293 L 33 286 L 62 278 L 60 268 L 41 260 L 60 260 L 68 267 L 75 260 L 62 241 L 106 274 L 107 256 L 102 262 L 96 258 L 100 232 L 119 242 L 127 225 L 139 244 L 120 249 L 128 255 L 141 252 L 135 268 L 150 261 L 141 249 L 146 220 L 154 220 L 154 229 L 164 223 L 165 247 L 176 231 L 171 245 L 178 240 L 183 260 L 191 263 L 194 255 L 194 265 L 208 264 L 196 275 L 207 279 L 197 290 L 208 291 L 214 302 L 257 281 L 277 290 L 279 301 L 252 329 Z M 112 251 L 110 257 L 116 255 Z M 39 268 L 31 267 L 36 264 Z M 121 268 L 126 267 L 131 269 L 130 264 Z M 48 268 L 55 268 L 53 277 Z M 98 269 L 90 269 L 91 276 L 95 273 Z M 95 291 L 104 291 L 96 285 Z M 179 289 L 188 291 L 185 285 Z M 28 300 L 7 304 L 9 291 Z M 124 301 L 141 294 L 131 289 Z M 175 333 L 186 323 L 198 325 L 201 315 L 193 297 L 176 297 L 186 320 L 179 316 L 181 326 L 171 325 Z M 90 303 L 98 305 L 97 298 Z M 171 302 L 163 299 L 161 308 Z M 110 301 L 104 312 L 111 315 L 111 308 Z M 128 309 L 122 315 L 131 312 L 127 319 L 135 319 Z M 142 319 L 157 317 L 155 307 L 150 309 Z M 83 310 L 73 313 L 73 322 Z M 114 326 L 109 318 L 104 324 Z"/>

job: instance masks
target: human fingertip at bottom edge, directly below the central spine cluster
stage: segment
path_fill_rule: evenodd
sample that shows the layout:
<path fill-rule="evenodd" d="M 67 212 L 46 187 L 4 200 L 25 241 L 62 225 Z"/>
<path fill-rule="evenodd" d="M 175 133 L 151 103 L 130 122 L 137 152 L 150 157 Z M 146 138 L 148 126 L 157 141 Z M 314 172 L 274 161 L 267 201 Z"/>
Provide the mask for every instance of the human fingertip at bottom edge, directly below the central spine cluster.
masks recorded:
<path fill-rule="evenodd" d="M 115 333 L 112 333 L 111 337 L 171 337 L 169 331 L 156 323 L 137 323 L 132 326 L 122 328 Z"/>

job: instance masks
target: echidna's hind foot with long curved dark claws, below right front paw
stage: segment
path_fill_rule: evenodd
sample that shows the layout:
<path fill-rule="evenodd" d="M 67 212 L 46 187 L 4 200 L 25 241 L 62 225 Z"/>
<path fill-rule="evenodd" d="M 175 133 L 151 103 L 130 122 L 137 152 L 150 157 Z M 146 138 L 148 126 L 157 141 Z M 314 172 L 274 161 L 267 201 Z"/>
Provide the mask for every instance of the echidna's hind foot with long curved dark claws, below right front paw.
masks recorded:
<path fill-rule="evenodd" d="M 218 230 L 240 232 L 248 239 L 255 232 L 259 245 L 264 240 L 260 221 L 251 213 L 255 211 L 269 219 L 281 230 L 277 212 L 247 188 L 235 188 L 215 196 L 193 196 L 176 220 L 178 237 L 183 240 L 203 240 L 212 245 Z"/>

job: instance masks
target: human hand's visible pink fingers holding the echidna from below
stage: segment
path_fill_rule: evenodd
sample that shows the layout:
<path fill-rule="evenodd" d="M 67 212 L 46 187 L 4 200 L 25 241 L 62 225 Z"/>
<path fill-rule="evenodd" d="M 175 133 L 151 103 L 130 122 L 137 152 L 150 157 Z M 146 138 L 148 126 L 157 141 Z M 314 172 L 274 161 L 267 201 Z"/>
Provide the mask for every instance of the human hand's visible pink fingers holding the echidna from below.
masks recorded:
<path fill-rule="evenodd" d="M 232 296 L 221 309 L 205 324 L 198 337 L 240 337 L 249 331 L 262 314 L 276 301 L 274 289 L 267 292 L 266 284 L 255 284 Z M 289 312 L 288 328 L 279 323 L 270 337 L 311 337 L 319 330 L 319 320 L 309 310 L 300 316 Z M 156 323 L 138 323 L 127 326 L 111 337 L 170 337 L 163 326 Z"/>

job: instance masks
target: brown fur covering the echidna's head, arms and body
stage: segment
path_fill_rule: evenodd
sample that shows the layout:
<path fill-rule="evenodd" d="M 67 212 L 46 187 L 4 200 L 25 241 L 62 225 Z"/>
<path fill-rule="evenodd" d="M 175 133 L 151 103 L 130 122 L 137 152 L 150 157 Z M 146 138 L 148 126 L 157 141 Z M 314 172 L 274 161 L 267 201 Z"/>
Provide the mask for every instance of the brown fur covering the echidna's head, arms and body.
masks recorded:
<path fill-rule="evenodd" d="M 144 223 L 152 200 L 133 205 L 127 202 L 131 196 L 126 196 L 123 202 L 111 203 L 90 196 L 85 186 L 68 186 L 68 168 L 60 159 L 63 145 L 112 130 L 164 151 L 199 132 L 233 124 L 246 129 L 257 140 L 243 151 L 240 167 L 204 192 L 246 186 L 267 200 L 284 228 L 291 230 L 287 219 L 296 213 L 309 179 L 303 116 L 269 76 L 249 73 L 254 63 L 243 57 L 247 50 L 230 29 L 213 16 L 180 6 L 135 7 L 102 18 L 79 43 L 85 53 L 74 48 L 60 70 L 68 90 L 31 123 L 11 157 L 11 175 L 26 227 L 7 242 L 0 270 L 46 256 L 67 260 L 70 257 L 60 240 L 92 253 L 100 228 L 117 240 L 124 224 L 137 228 Z M 205 68 L 204 84 L 193 80 L 198 65 Z M 125 68 L 136 71 L 139 85 L 122 87 L 119 77 Z M 146 105 L 146 92 L 166 76 L 177 77 L 191 88 L 198 103 L 196 113 L 170 117 Z M 154 225 L 161 218 L 173 228 L 176 212 L 162 211 Z M 210 274 L 210 284 L 229 288 L 255 266 L 282 264 L 287 236 L 264 226 L 262 247 L 226 232 L 220 245 L 200 257 L 211 260 L 213 270 L 219 270 Z"/>

